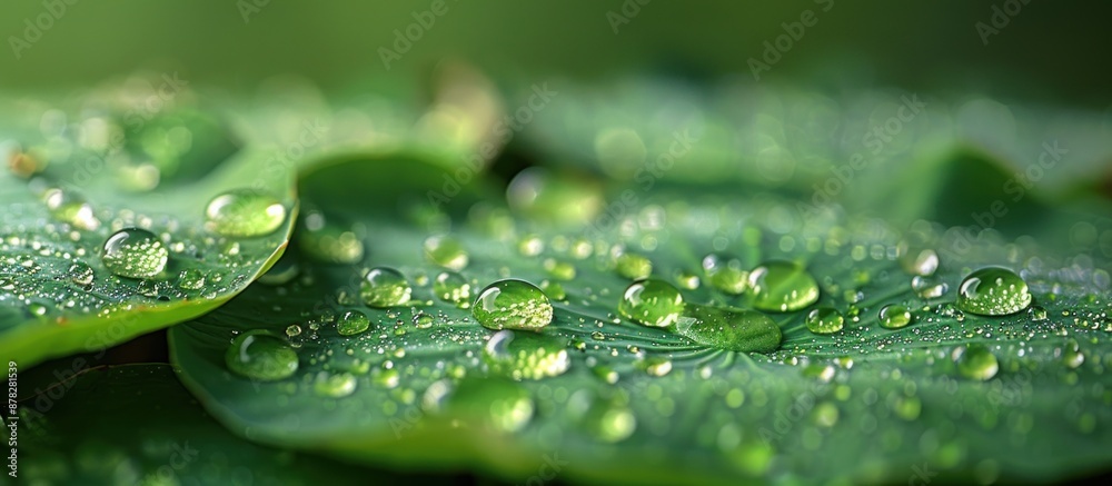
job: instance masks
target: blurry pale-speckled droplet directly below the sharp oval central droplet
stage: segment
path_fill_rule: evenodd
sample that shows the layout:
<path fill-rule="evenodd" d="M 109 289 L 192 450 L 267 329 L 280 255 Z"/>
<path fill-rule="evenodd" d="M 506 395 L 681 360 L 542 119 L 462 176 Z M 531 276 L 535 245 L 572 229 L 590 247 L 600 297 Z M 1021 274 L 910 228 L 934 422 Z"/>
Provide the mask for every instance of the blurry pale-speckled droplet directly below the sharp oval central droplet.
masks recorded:
<path fill-rule="evenodd" d="M 572 364 L 562 340 L 532 333 L 499 330 L 483 349 L 492 371 L 516 380 L 559 376 Z"/>

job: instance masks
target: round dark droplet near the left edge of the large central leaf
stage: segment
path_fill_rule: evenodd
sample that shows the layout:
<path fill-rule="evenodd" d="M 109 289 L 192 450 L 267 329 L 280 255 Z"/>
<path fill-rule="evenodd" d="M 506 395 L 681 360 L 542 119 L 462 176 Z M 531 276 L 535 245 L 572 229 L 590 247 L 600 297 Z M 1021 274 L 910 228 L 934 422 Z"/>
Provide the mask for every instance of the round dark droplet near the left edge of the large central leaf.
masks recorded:
<path fill-rule="evenodd" d="M 236 336 L 225 355 L 228 369 L 260 381 L 287 378 L 297 371 L 297 353 L 285 339 L 266 330 Z"/>

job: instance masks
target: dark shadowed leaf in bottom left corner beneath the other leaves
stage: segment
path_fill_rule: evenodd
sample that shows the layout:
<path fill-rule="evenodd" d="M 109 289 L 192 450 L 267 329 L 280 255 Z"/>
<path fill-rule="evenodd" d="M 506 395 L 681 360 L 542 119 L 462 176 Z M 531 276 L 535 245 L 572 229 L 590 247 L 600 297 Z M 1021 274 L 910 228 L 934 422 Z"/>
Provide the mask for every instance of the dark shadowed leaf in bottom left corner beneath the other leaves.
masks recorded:
<path fill-rule="evenodd" d="M 384 473 L 272 449 L 220 427 L 167 365 L 97 368 L 34 388 L 11 423 L 27 484 L 364 484 Z M 8 473 L 8 472 L 6 472 Z"/>

